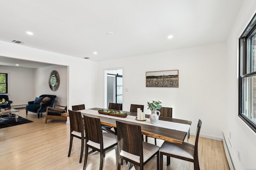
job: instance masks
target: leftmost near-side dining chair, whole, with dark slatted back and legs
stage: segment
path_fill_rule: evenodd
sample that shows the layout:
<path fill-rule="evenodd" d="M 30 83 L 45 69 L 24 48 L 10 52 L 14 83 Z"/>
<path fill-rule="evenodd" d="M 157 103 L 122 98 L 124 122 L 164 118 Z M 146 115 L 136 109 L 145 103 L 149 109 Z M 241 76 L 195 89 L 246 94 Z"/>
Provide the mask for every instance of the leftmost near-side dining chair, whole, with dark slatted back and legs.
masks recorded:
<path fill-rule="evenodd" d="M 70 144 L 69 144 L 68 157 L 70 157 L 73 137 L 81 139 L 81 141 L 82 141 L 81 142 L 81 153 L 80 153 L 80 160 L 79 160 L 79 163 L 81 163 L 82 157 L 83 157 L 84 139 L 85 139 L 82 115 L 81 115 L 80 111 L 68 110 L 68 113 L 69 113 L 69 119 L 70 119 Z"/>

